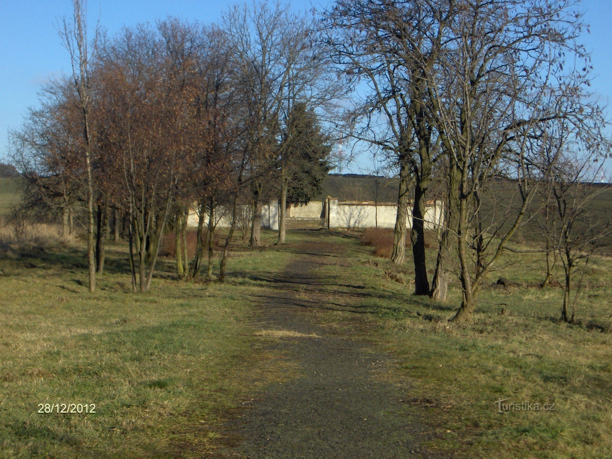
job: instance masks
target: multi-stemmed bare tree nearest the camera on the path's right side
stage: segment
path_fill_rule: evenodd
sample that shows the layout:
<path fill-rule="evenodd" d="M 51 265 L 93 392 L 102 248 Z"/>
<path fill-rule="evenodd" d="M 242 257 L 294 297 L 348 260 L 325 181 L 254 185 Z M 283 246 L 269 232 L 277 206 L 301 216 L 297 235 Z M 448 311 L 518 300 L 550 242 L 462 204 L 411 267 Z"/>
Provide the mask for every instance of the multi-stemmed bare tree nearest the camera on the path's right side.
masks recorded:
<path fill-rule="evenodd" d="M 442 149 L 458 178 L 449 203 L 463 289 L 456 321 L 469 320 L 484 278 L 524 223 L 545 176 L 532 166 L 542 132 L 568 120 L 597 134 L 600 108 L 584 102 L 589 64 L 576 42 L 582 27 L 576 4 L 466 0 L 453 9 L 428 92 Z M 483 193 L 493 177 L 513 181 L 520 196 L 505 225 L 483 220 Z"/>

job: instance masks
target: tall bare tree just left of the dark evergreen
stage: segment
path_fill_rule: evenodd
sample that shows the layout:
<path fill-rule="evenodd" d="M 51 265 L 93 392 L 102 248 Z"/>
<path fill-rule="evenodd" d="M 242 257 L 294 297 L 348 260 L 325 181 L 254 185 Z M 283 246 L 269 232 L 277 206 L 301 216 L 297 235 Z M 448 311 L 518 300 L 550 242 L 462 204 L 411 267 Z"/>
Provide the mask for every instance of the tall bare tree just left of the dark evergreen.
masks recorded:
<path fill-rule="evenodd" d="M 294 103 L 321 106 L 329 100 L 325 60 L 313 48 L 313 21 L 288 6 L 268 2 L 234 6 L 222 20 L 236 59 L 248 123 L 248 180 L 253 196 L 250 246 L 260 244 L 261 203 L 267 176 L 277 165 L 283 120 Z M 324 95 L 325 94 L 325 95 Z M 280 168 L 281 190 L 288 173 Z M 283 184 L 284 182 L 284 184 Z"/>

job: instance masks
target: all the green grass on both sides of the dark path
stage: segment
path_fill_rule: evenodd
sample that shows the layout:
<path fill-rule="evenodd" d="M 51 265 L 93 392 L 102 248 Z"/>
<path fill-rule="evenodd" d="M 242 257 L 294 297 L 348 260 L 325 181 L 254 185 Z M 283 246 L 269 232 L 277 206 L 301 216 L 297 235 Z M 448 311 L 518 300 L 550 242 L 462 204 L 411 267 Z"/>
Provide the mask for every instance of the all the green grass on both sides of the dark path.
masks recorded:
<path fill-rule="evenodd" d="M 588 323 L 612 318 L 610 258 L 589 263 L 577 308 L 582 325 L 558 321 L 559 288 L 539 288 L 542 260 L 506 258 L 485 288 L 474 323 L 447 321 L 460 302 L 411 294 L 411 259 L 396 267 L 349 231 L 291 232 L 262 250 L 236 242 L 225 285 L 174 280 L 159 266 L 152 291 L 129 293 L 125 246 L 110 243 L 99 291 L 88 294 L 80 242 L 35 245 L 0 258 L 0 457 L 201 457 L 218 425 L 254 387 L 294 377 L 266 351 L 250 298 L 298 256 L 294 244 L 326 243 L 351 263 L 321 267 L 342 291 L 363 285 L 352 338 L 394 356 L 380 377 L 406 388 L 406 409 L 431 431 L 430 450 L 455 457 L 603 458 L 612 451 L 612 348 Z M 433 268 L 435 250 L 428 252 Z M 253 274 L 257 274 L 253 276 Z M 343 285 L 346 285 L 343 286 Z M 505 313 L 501 311 L 504 308 Z M 356 315 L 325 313 L 351 330 Z M 347 336 L 351 336 L 348 334 Z M 554 410 L 497 411 L 496 400 Z M 247 399 L 248 400 L 248 399 Z M 39 414 L 39 403 L 95 403 L 94 414 Z"/>

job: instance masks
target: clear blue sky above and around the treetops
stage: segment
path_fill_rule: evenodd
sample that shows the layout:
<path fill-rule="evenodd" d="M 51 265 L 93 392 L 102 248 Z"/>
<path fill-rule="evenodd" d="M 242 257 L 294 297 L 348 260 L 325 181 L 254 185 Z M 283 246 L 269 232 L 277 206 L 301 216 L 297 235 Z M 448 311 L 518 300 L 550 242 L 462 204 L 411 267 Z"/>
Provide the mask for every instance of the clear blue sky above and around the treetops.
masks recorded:
<path fill-rule="evenodd" d="M 113 33 L 139 22 L 174 16 L 201 22 L 215 21 L 233 0 L 89 0 L 89 22 Z M 315 4 L 318 3 L 315 1 Z M 327 1 L 323 1 L 327 3 Z M 310 0 L 293 0 L 297 9 Z M 586 22 L 583 43 L 591 51 L 595 72 L 593 89 L 612 102 L 612 0 L 583 0 Z M 71 0 L 0 0 L 0 160 L 6 154 L 7 130 L 19 127 L 29 106 L 37 105 L 37 92 L 53 75 L 68 72 L 69 61 L 56 30 L 62 16 L 70 16 Z M 612 107 L 608 110 L 612 119 Z M 369 166 L 362 155 L 348 170 Z M 347 171 L 347 168 L 345 168 Z M 608 160 L 606 175 L 612 174 Z"/>

